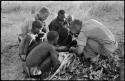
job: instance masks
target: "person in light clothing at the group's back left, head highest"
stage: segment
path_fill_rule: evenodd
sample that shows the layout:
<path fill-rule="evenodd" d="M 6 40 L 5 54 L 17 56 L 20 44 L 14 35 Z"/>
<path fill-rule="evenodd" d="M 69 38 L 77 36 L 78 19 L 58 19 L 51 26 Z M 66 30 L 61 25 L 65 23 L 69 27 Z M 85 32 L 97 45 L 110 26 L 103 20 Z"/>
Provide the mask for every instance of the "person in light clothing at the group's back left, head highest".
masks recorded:
<path fill-rule="evenodd" d="M 21 33 L 19 34 L 18 40 L 19 43 L 21 42 L 22 38 L 24 38 L 27 33 L 31 32 L 32 30 L 32 22 L 39 20 L 42 23 L 42 31 L 47 32 L 45 20 L 50 15 L 50 11 L 47 7 L 42 7 L 33 17 L 26 18 L 24 23 L 21 25 Z"/>

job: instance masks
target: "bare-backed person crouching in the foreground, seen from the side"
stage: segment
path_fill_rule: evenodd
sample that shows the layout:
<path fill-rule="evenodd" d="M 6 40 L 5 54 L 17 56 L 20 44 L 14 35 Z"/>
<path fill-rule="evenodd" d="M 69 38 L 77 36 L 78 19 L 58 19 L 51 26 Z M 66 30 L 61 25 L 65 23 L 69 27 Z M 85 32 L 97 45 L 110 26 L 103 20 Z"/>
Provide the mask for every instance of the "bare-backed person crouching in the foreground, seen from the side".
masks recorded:
<path fill-rule="evenodd" d="M 58 60 L 58 53 L 54 46 L 57 43 L 58 38 L 59 35 L 56 31 L 48 32 L 48 41 L 36 46 L 29 53 L 26 58 L 26 65 L 29 68 L 31 76 L 34 76 L 34 73 L 37 71 L 43 73 L 50 69 L 50 67 L 54 67 L 55 70 L 58 68 L 60 61 Z M 35 70 L 35 68 L 37 68 L 37 70 Z M 41 75 L 41 73 L 38 75 Z"/>

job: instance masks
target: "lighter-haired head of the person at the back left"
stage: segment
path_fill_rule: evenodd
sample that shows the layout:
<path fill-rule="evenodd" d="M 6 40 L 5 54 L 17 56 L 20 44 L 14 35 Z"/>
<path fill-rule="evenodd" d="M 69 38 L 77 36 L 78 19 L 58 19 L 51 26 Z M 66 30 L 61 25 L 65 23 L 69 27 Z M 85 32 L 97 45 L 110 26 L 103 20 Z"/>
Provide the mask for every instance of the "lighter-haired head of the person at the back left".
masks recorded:
<path fill-rule="evenodd" d="M 49 14 L 50 14 L 50 12 L 49 12 L 48 8 L 42 7 L 36 17 L 40 21 L 45 21 L 47 19 L 47 17 L 49 16 Z"/>

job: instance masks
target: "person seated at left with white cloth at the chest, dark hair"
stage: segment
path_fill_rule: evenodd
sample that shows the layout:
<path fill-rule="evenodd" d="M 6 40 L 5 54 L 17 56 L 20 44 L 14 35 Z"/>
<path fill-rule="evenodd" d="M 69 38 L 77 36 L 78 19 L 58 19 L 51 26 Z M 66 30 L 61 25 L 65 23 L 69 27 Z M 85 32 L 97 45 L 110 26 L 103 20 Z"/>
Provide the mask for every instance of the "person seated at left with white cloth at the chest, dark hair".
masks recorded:
<path fill-rule="evenodd" d="M 21 59 L 24 61 L 30 50 L 32 50 L 38 42 L 40 42 L 40 38 L 37 35 L 40 33 L 42 28 L 42 24 L 40 21 L 34 21 L 32 23 L 32 30 L 29 32 L 21 41 L 19 46 L 19 55 L 21 55 Z M 36 40 L 37 39 L 37 40 Z"/>

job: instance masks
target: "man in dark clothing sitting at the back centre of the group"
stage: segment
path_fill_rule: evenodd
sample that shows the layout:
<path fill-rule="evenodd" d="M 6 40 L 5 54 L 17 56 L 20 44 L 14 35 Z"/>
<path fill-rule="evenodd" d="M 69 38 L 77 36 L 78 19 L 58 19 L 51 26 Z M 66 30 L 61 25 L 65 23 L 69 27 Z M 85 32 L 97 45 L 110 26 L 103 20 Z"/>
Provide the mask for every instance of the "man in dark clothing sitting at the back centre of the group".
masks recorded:
<path fill-rule="evenodd" d="M 72 36 L 69 35 L 68 27 L 66 27 L 67 24 L 65 21 L 65 11 L 59 10 L 57 18 L 49 25 L 50 31 L 57 31 L 59 33 L 58 45 L 60 46 L 66 46 L 72 41 Z"/>

